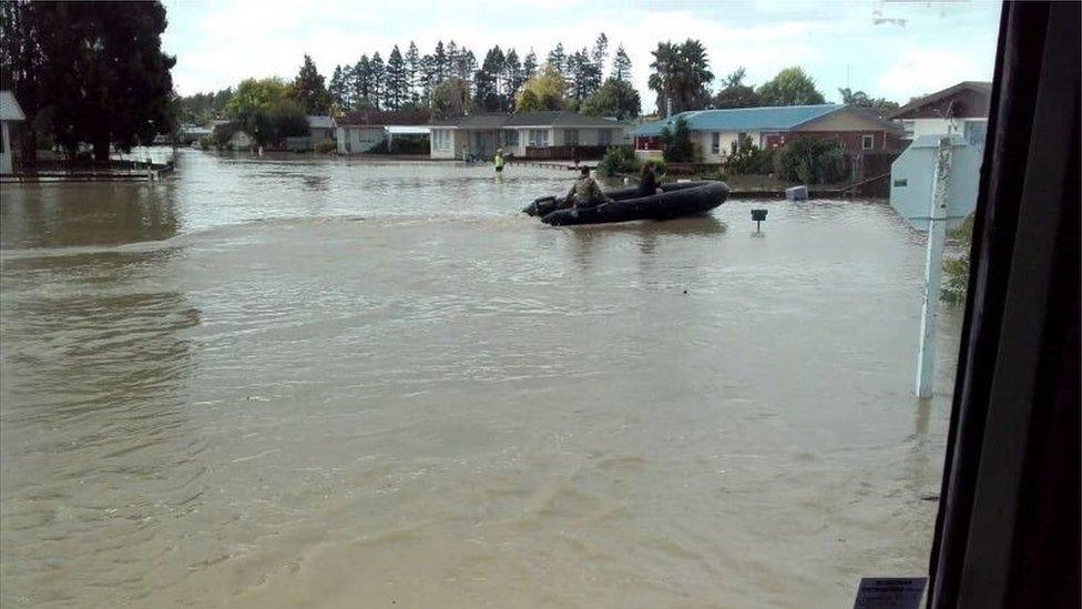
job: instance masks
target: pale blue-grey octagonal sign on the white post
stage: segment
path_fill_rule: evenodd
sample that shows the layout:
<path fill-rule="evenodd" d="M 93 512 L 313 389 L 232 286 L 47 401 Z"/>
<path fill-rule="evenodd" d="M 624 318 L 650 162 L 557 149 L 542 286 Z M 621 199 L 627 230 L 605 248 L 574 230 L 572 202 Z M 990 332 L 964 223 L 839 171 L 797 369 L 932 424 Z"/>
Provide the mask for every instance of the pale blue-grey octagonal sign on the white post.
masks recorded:
<path fill-rule="evenodd" d="M 977 184 L 983 151 L 961 135 L 920 135 L 890 165 L 890 206 L 910 226 L 928 230 L 936 184 L 939 142 L 950 139 L 951 162 L 947 176 L 947 227 L 955 229 L 977 209 Z"/>

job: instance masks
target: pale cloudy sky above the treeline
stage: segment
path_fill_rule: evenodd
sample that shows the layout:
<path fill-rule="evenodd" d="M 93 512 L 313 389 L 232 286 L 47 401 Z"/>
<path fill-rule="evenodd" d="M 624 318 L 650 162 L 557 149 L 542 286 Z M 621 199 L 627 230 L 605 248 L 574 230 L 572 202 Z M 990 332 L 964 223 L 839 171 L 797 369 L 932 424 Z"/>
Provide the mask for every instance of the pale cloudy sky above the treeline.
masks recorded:
<path fill-rule="evenodd" d="M 698 39 L 719 80 L 737 68 L 761 84 L 800 65 L 827 101 L 850 87 L 905 103 L 963 80 L 991 80 L 1000 2 L 988 0 L 615 1 L 470 0 L 165 0 L 165 52 L 176 55 L 182 95 L 235 85 L 249 77 L 292 80 L 304 54 L 324 75 L 379 51 L 415 41 L 423 53 L 455 40 L 478 61 L 492 45 L 532 49 L 543 61 L 558 42 L 592 47 L 600 32 L 610 51 L 623 44 L 643 110 L 651 50 L 662 41 Z M 610 53 L 611 55 L 611 53 Z M 610 61 L 611 65 L 611 61 Z M 714 83 L 714 89 L 718 83 Z"/>

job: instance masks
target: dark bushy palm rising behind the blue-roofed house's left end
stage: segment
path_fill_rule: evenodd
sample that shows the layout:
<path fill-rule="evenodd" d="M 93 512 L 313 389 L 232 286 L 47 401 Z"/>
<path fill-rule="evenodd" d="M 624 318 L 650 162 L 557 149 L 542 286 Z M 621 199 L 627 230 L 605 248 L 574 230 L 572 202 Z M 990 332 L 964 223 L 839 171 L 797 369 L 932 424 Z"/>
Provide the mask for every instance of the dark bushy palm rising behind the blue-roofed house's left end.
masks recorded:
<path fill-rule="evenodd" d="M 702 110 L 710 103 L 707 87 L 714 80 L 706 58 L 706 49 L 697 40 L 687 39 L 682 44 L 659 42 L 651 51 L 654 73 L 649 84 L 657 93 L 657 110 L 668 113 Z"/>

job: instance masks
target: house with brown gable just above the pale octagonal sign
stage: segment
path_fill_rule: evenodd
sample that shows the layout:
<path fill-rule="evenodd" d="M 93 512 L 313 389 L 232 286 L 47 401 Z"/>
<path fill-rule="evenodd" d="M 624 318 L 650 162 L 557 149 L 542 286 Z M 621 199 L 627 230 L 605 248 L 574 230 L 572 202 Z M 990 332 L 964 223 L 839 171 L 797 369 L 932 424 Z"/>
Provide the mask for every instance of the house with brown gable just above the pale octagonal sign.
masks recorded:
<path fill-rule="evenodd" d="M 966 81 L 912 100 L 887 118 L 901 124 L 907 140 L 960 133 L 967 142 L 983 149 L 991 100 L 992 83 Z"/>

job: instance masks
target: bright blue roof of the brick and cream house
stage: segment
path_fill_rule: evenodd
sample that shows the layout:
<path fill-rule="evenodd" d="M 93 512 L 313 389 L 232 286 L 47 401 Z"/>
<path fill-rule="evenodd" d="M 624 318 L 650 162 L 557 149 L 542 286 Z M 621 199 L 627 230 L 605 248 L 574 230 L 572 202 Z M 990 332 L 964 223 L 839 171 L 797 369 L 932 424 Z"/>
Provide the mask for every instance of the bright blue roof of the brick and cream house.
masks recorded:
<path fill-rule="evenodd" d="M 726 110 L 692 110 L 667 119 L 644 123 L 633 129 L 633 136 L 661 135 L 683 116 L 692 131 L 789 131 L 846 108 L 841 104 L 767 105 L 762 108 L 731 108 Z"/>

